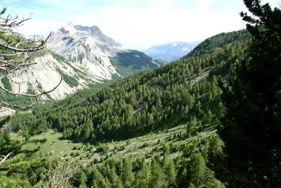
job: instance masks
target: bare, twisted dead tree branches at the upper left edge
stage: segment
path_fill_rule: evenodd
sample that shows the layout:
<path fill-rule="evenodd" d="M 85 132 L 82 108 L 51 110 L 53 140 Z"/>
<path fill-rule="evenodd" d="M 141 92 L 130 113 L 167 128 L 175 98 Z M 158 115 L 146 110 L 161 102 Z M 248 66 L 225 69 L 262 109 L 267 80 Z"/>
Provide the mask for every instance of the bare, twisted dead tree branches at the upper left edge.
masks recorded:
<path fill-rule="evenodd" d="M 34 37 L 33 39 L 25 39 L 24 37 L 15 35 L 13 33 L 13 29 L 15 27 L 20 27 L 23 25 L 23 23 L 25 23 L 25 21 L 30 20 L 31 18 L 22 18 L 19 20 L 18 15 L 15 17 L 10 14 L 4 16 L 5 13 L 6 8 L 3 8 L 3 10 L 0 12 L 0 71 L 8 75 L 19 68 L 36 64 L 36 62 L 31 63 L 29 61 L 27 54 L 32 51 L 45 49 L 47 40 L 51 33 L 44 40 L 37 39 L 37 37 Z M 13 96 L 30 97 L 30 105 L 17 106 L 15 104 L 9 103 L 8 101 L 2 101 L 1 99 L 0 104 L 11 108 L 26 110 L 34 106 L 35 102 L 39 99 L 39 96 L 53 92 L 53 90 L 60 85 L 62 80 L 63 77 L 61 76 L 60 81 L 57 85 L 55 85 L 55 87 L 53 87 L 53 89 L 50 91 L 41 92 L 39 94 L 24 94 L 20 92 L 15 93 L 0 86 L 0 90 L 6 92 L 7 94 L 11 94 Z"/>

